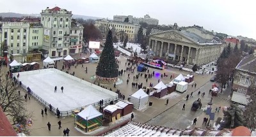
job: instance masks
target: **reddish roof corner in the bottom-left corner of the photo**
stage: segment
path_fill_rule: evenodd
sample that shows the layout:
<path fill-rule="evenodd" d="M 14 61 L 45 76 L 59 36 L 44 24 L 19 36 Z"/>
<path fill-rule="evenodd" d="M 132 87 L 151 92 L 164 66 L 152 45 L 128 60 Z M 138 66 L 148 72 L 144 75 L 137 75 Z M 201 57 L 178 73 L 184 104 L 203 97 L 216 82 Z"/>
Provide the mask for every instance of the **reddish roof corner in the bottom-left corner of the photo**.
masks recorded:
<path fill-rule="evenodd" d="M 0 136 L 17 136 L 6 115 L 0 106 Z"/>

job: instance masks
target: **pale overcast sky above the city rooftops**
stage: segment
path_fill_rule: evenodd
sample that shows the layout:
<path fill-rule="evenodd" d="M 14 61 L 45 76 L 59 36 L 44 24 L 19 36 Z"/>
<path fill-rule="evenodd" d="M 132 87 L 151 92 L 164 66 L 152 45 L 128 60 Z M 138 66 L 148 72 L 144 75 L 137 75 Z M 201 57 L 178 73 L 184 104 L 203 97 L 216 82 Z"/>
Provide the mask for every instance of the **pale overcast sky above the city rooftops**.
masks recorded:
<path fill-rule="evenodd" d="M 59 6 L 76 15 L 113 18 L 149 14 L 159 24 L 200 25 L 232 36 L 256 39 L 256 1 L 236 0 L 0 0 L 0 12 L 40 13 Z"/>

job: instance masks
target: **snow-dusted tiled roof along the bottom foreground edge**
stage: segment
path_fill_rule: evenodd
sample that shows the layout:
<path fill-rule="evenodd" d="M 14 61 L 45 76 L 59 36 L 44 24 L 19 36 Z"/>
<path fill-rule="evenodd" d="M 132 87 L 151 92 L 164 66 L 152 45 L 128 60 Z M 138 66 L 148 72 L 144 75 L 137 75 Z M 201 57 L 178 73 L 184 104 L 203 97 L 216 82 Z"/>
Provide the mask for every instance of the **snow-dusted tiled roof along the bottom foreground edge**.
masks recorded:
<path fill-rule="evenodd" d="M 129 122 L 106 136 L 231 136 L 232 131 L 207 129 L 174 129 L 163 126 L 150 126 L 138 122 Z"/>

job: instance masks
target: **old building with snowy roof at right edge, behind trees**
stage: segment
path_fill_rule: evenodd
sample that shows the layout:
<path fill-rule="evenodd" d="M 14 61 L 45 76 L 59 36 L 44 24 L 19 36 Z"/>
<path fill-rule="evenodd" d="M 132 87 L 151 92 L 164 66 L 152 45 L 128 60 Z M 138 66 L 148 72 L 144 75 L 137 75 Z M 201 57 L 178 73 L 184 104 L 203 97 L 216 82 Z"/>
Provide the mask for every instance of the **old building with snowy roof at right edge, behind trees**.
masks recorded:
<path fill-rule="evenodd" d="M 250 90 L 248 88 L 251 84 L 256 85 L 256 54 L 251 54 L 242 59 L 237 64 L 234 73 L 234 82 L 232 85 L 231 101 L 247 105 L 250 98 Z"/>

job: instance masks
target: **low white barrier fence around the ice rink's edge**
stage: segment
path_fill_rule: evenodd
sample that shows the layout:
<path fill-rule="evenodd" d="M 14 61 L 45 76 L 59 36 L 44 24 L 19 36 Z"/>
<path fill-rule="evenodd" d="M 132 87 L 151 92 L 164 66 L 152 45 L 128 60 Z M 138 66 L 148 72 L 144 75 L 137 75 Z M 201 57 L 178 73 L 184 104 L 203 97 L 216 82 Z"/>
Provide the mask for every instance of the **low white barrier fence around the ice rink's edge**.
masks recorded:
<path fill-rule="evenodd" d="M 70 78 L 70 79 L 72 79 L 72 80 L 76 80 L 77 82 L 81 82 L 81 83 L 87 85 L 88 87 L 91 87 L 91 88 L 96 89 L 96 90 L 100 90 L 100 91 L 102 91 L 102 92 L 104 92 L 104 93 L 106 93 L 106 94 L 110 94 L 111 96 L 113 96 L 113 97 L 111 97 L 111 98 L 109 98 L 109 99 L 103 100 L 103 104 L 110 103 L 110 101 L 116 101 L 116 100 L 118 100 L 118 94 L 116 94 L 115 92 L 113 92 L 113 91 L 111 91 L 111 90 L 108 90 L 108 89 L 104 89 L 104 88 L 102 88 L 102 87 L 100 87 L 100 86 L 98 86 L 98 85 L 95 85 L 95 84 L 93 84 L 93 83 L 86 82 L 85 80 L 82 80 L 81 78 L 77 78 L 76 76 L 69 75 L 69 74 L 67 74 L 67 73 L 65 73 L 65 72 L 63 72 L 63 71 L 58 70 L 58 69 L 54 69 L 54 68 L 39 69 L 39 70 L 35 70 L 35 71 L 24 71 L 24 72 L 22 72 L 22 73 L 25 74 L 25 75 L 31 75 L 31 74 L 38 74 L 38 73 L 40 73 L 40 72 L 47 72 L 47 71 L 54 71 L 55 73 L 59 73 L 59 74 L 61 74 L 61 75 L 67 76 L 68 78 Z M 15 77 L 17 78 L 17 75 L 18 75 L 18 73 L 13 73 L 13 77 L 15 76 Z M 19 82 L 20 82 L 20 81 L 19 81 L 19 79 L 18 79 L 18 84 L 19 84 Z M 24 84 L 22 83 L 21 87 L 22 87 L 23 89 L 25 89 L 25 90 L 28 91 L 27 88 L 28 88 L 29 86 L 26 86 L 26 85 L 24 85 Z M 47 102 L 46 102 L 44 99 L 42 99 L 40 96 L 36 95 L 35 92 L 33 92 L 33 90 L 31 90 L 30 95 L 33 96 L 37 101 L 39 101 L 43 106 L 49 108 L 49 103 L 47 103 Z M 94 107 L 99 106 L 99 101 L 98 101 L 98 102 L 95 102 L 95 103 L 92 103 L 92 104 L 90 104 L 90 105 L 93 105 Z M 86 105 L 86 106 L 88 106 L 88 105 Z M 61 111 L 61 110 L 60 110 L 60 116 L 62 117 L 62 116 L 72 115 L 73 112 L 74 112 L 74 110 L 83 110 L 84 108 L 86 108 L 86 106 L 81 106 L 81 107 L 79 107 L 79 108 L 74 108 L 74 109 L 68 110 L 68 111 Z M 52 106 L 52 112 L 53 112 L 54 114 L 56 113 L 56 108 L 54 108 L 54 106 Z"/>

